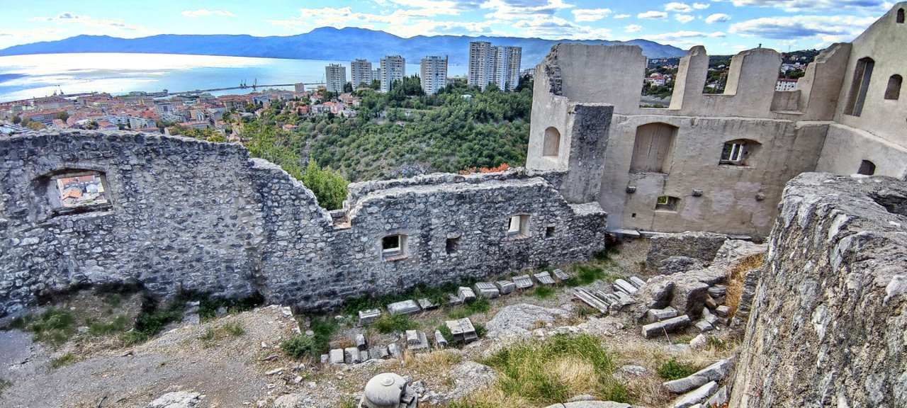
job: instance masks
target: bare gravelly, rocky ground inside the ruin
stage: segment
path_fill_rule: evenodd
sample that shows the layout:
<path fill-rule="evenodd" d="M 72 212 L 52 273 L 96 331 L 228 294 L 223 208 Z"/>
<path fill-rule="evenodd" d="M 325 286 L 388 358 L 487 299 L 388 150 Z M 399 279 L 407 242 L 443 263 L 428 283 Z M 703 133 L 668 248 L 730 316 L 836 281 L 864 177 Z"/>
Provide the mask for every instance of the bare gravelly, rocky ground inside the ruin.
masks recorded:
<path fill-rule="evenodd" d="M 654 272 L 643 267 L 648 247 L 645 239 L 621 245 L 619 254 L 611 256 L 614 262 L 607 270 L 609 278 L 588 288 L 610 291 L 608 280 L 615 276 L 649 278 Z M 117 313 L 122 310 L 134 317 L 139 301 L 138 297 L 125 299 L 117 306 Z M 77 306 L 85 307 L 85 302 Z M 187 319 L 134 346 L 101 338 L 54 347 L 34 343 L 30 334 L 18 330 L 2 331 L 0 406 L 354 406 L 368 379 L 383 372 L 411 379 L 423 405 L 443 406 L 493 383 L 493 369 L 479 362 L 495 351 L 527 337 L 581 332 L 600 337 L 606 347 L 617 352 L 621 368 L 615 376 L 627 384 L 640 406 L 656 407 L 674 398 L 656 374 L 659 364 L 674 356 L 701 368 L 733 351 L 733 347 L 707 345 L 693 350 L 688 345 L 693 332 L 645 340 L 639 334 L 639 321 L 629 313 L 597 317 L 580 314 L 579 310 L 579 304 L 564 288 L 547 298 L 530 293 L 502 296 L 491 301 L 488 312 L 470 316 L 487 329 L 487 335 L 478 342 L 431 353 L 407 353 L 400 359 L 336 365 L 293 359 L 280 350 L 281 340 L 296 335 L 298 323 L 309 316 L 293 316 L 288 308 L 279 306 L 258 307 L 200 323 Z M 447 313 L 444 309 L 432 311 L 415 317 L 415 322 L 427 331 L 442 324 Z M 342 326 L 333 346 L 352 345 L 358 333 L 365 334 L 372 344 L 398 339 L 398 335 L 357 328 L 351 316 L 336 318 Z M 726 327 L 712 333 L 716 338 L 730 338 Z M 159 400 L 162 395 L 166 395 L 166 402 Z M 579 396 L 580 400 L 586 398 Z"/>

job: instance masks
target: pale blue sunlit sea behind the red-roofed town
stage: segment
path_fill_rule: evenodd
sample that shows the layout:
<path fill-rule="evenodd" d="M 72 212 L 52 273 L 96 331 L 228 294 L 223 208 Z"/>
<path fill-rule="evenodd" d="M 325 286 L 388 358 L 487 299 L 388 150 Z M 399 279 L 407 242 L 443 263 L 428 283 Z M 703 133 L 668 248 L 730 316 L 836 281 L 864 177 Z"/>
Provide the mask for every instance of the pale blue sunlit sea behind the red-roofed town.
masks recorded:
<path fill-rule="evenodd" d="M 0 102 L 53 95 L 134 91 L 187 92 L 238 87 L 247 89 L 210 92 L 214 95 L 253 92 L 251 86 L 324 83 L 325 66 L 346 66 L 349 61 L 291 60 L 170 53 L 53 53 L 0 57 Z M 377 68 L 378 62 L 372 62 Z M 407 63 L 406 75 L 419 73 L 419 64 Z M 448 76 L 464 75 L 465 66 L 448 66 Z M 292 87 L 283 87 L 292 89 Z"/>

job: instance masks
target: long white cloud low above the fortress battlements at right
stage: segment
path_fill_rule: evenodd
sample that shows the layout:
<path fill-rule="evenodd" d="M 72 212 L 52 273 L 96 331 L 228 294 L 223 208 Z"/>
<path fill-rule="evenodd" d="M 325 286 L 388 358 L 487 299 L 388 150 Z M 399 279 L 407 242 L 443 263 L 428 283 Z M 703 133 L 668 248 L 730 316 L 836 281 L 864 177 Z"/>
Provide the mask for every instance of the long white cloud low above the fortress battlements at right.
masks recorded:
<path fill-rule="evenodd" d="M 853 15 L 796 15 L 790 17 L 756 18 L 742 23 L 731 24 L 728 30 L 734 34 L 769 38 L 773 40 L 795 40 L 813 38 L 821 47 L 828 44 L 851 41 L 863 33 L 875 17 Z"/>

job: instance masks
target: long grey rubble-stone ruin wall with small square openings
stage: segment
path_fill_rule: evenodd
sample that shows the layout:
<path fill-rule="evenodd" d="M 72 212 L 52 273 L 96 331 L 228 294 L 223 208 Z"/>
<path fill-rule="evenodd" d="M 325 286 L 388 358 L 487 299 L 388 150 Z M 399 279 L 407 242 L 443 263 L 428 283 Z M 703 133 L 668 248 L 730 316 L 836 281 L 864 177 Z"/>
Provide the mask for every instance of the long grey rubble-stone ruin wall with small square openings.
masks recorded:
<path fill-rule="evenodd" d="M 260 293 L 306 309 L 540 265 L 604 248 L 605 213 L 571 204 L 562 174 L 429 175 L 350 185 L 328 212 L 300 182 L 237 144 L 126 132 L 0 139 L 0 316 L 73 287 L 152 295 Z M 50 177 L 94 170 L 112 207 L 58 214 Z M 509 234 L 510 218 L 528 226 Z M 403 234 L 403 257 L 382 238 Z M 448 253 L 452 238 L 455 253 Z"/>

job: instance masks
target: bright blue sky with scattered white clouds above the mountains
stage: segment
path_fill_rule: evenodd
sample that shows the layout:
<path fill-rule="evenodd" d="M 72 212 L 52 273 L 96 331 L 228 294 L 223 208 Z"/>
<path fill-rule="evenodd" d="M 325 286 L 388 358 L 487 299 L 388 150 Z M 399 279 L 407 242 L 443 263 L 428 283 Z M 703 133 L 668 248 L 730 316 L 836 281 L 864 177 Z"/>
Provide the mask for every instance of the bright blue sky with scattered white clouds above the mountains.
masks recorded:
<path fill-rule="evenodd" d="M 0 48 L 78 34 L 292 35 L 356 26 L 403 37 L 643 38 L 709 53 L 850 41 L 892 7 L 873 0 L 0 0 Z"/>

